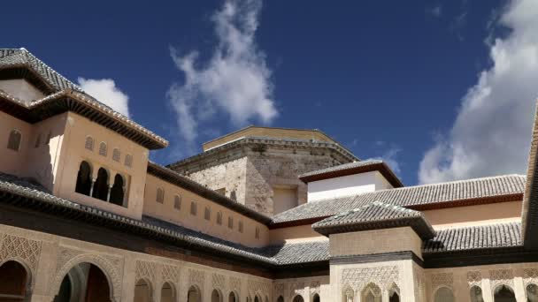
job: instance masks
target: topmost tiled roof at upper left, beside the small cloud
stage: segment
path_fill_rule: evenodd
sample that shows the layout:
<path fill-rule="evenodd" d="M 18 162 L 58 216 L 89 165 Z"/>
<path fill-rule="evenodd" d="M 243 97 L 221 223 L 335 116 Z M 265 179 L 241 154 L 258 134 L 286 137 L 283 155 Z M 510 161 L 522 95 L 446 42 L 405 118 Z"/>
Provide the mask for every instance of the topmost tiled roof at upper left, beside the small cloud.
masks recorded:
<path fill-rule="evenodd" d="M 81 91 L 81 87 L 65 79 L 61 74 L 44 64 L 40 59 L 32 55 L 27 49 L 0 49 L 0 67 L 17 67 L 27 65 L 35 71 L 43 80 L 53 88 L 55 92 L 71 88 Z"/>

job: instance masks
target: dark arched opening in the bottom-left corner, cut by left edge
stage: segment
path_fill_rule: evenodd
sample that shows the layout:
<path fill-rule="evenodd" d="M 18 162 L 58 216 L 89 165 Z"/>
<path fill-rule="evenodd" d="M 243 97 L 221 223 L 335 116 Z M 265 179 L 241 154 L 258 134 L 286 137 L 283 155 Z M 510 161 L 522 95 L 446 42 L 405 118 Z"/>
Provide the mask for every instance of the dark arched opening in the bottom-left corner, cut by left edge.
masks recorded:
<path fill-rule="evenodd" d="M 0 267 L 0 301 L 24 301 L 27 291 L 27 270 L 17 261 Z"/>

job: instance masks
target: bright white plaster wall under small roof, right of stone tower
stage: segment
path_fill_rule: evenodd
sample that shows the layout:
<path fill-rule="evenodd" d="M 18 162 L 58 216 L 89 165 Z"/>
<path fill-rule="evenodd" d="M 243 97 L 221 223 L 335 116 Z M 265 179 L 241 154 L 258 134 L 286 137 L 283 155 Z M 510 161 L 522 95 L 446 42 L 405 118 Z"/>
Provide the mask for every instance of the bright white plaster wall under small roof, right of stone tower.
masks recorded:
<path fill-rule="evenodd" d="M 308 201 L 327 200 L 392 188 L 379 171 L 334 177 L 308 183 Z"/>

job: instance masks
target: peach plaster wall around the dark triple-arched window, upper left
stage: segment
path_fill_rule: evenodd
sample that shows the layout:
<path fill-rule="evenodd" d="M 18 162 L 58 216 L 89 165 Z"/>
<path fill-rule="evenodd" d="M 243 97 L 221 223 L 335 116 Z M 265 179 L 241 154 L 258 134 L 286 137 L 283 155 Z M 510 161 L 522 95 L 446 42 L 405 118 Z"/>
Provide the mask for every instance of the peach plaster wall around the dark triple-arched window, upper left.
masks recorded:
<path fill-rule="evenodd" d="M 131 140 L 109 130 L 101 125 L 91 122 L 72 112 L 66 114 L 65 132 L 59 154 L 58 180 L 54 185 L 54 194 L 67 200 L 73 200 L 88 206 L 102 208 L 106 211 L 125 215 L 134 219 L 142 218 L 143 193 L 146 183 L 148 167 L 148 149 Z M 94 149 L 85 148 L 87 136 L 94 139 Z M 99 155 L 99 144 L 107 144 L 107 155 Z M 119 148 L 119 162 L 112 160 L 114 148 Z M 125 165 L 125 156 L 133 156 L 132 167 Z M 109 173 L 109 185 L 113 185 L 116 174 L 127 180 L 125 186 L 124 207 L 103 200 L 75 193 L 77 173 L 82 161 L 92 166 L 94 180 L 99 168 Z"/>

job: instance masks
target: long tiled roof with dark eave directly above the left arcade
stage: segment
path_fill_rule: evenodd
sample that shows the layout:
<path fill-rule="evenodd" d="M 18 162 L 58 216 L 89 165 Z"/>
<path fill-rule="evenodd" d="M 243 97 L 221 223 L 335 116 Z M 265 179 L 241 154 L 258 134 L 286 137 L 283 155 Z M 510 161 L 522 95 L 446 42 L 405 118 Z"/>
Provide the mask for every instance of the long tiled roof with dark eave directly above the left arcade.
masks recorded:
<path fill-rule="evenodd" d="M 10 202 L 10 199 L 6 197 L 8 194 L 17 196 L 15 200 L 19 206 L 24 203 L 21 198 L 27 198 L 32 200 L 31 207 L 46 208 L 57 215 L 70 215 L 70 213 L 73 213 L 73 216 L 76 216 L 79 221 L 83 221 L 84 217 L 88 215 L 91 216 L 88 222 L 99 223 L 101 226 L 109 225 L 113 228 L 122 228 L 129 231 L 138 230 L 143 236 L 150 236 L 153 239 L 173 239 L 178 243 L 196 245 L 210 249 L 215 253 L 227 253 L 266 265 L 328 260 L 328 241 L 322 245 L 300 243 L 272 245 L 263 248 L 248 247 L 150 216 L 143 216 L 142 221 L 139 221 L 98 208 L 84 206 L 70 200 L 58 198 L 34 181 L 0 172 L 0 202 Z M 40 204 L 42 207 L 40 207 Z M 61 208 L 61 210 L 58 210 L 58 208 Z"/>

